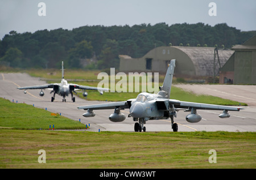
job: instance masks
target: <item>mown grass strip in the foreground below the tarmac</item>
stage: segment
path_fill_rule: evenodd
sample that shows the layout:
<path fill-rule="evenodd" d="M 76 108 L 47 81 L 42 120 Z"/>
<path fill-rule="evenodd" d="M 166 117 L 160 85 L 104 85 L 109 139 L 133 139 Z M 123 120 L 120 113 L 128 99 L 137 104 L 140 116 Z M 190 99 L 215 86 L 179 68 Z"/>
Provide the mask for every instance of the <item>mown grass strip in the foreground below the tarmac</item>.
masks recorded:
<path fill-rule="evenodd" d="M 0 130 L 0 168 L 255 168 L 254 132 Z M 46 151 L 46 164 L 38 151 Z M 209 151 L 217 152 L 210 164 Z"/>

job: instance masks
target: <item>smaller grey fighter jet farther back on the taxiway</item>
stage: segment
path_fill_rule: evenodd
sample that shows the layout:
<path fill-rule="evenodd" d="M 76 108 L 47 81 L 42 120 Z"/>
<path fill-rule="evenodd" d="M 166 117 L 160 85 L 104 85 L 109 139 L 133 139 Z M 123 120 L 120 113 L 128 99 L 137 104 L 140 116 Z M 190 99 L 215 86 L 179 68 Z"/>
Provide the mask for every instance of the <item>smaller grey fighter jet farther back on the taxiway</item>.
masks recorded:
<path fill-rule="evenodd" d="M 108 88 L 97 88 L 97 87 L 90 87 L 86 85 L 78 85 L 78 84 L 72 84 L 68 83 L 67 80 L 64 79 L 64 67 L 62 62 L 62 79 L 60 83 L 53 83 L 53 84 L 45 84 L 45 85 L 34 85 L 34 86 L 27 86 L 27 87 L 18 87 L 18 89 L 24 89 L 24 93 L 26 94 L 26 89 L 41 89 L 39 95 L 44 96 L 43 89 L 46 88 L 52 88 L 52 91 L 50 93 L 53 93 L 53 96 L 51 98 L 51 101 L 53 102 L 55 100 L 55 94 L 60 95 L 63 97 L 63 102 L 66 102 L 65 97 L 71 94 L 71 100 L 75 102 L 75 97 L 73 97 L 73 92 L 76 93 L 76 89 L 83 89 L 84 92 L 82 93 L 82 96 L 86 97 L 88 93 L 85 91 L 87 90 L 98 90 L 100 91 L 100 94 L 103 95 L 103 91 L 109 91 Z"/>

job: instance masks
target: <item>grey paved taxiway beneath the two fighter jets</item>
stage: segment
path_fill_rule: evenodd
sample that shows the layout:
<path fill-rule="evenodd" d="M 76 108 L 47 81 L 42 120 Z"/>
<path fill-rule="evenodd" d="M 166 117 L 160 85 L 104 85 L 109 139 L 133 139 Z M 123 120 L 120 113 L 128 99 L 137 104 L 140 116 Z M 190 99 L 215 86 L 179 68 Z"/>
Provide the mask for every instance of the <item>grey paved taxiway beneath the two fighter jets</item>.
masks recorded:
<path fill-rule="evenodd" d="M 61 115 L 79 121 L 82 123 L 90 123 L 90 129 L 88 131 L 97 132 L 100 128 L 101 131 L 127 131 L 134 132 L 134 122 L 132 118 L 128 118 L 129 109 L 122 110 L 122 113 L 126 115 L 126 119 L 123 122 L 114 123 L 109 121 L 109 115 L 114 113 L 114 110 L 94 110 L 95 117 L 85 118 L 82 116 L 85 113 L 84 110 L 77 109 L 77 106 L 92 105 L 108 103 L 102 101 L 86 101 L 76 96 L 76 102 L 71 101 L 71 96 L 66 97 L 67 102 L 62 102 L 62 97 L 56 95 L 55 101 L 51 102 L 52 94 L 51 90 L 46 89 L 44 96 L 39 96 L 40 89 L 27 90 L 24 94 L 23 90 L 16 89 L 16 87 L 23 87 L 28 85 L 42 85 L 47 84 L 44 81 L 40 81 L 39 78 L 33 78 L 27 74 L 22 73 L 1 73 L 0 75 L 0 97 L 6 98 L 14 103 L 26 103 L 33 105 L 36 108 L 46 109 L 52 113 L 61 113 Z M 254 86 L 255 87 L 255 86 Z M 218 86 L 217 91 L 221 91 L 221 85 Z M 251 88 L 251 86 L 250 86 Z M 223 90 L 224 91 L 224 90 Z M 241 90 L 240 90 L 241 91 Z M 242 91 L 246 92 L 246 89 Z M 241 93 L 241 92 L 240 92 Z M 256 97 L 256 91 L 251 92 L 250 97 Z M 236 94 L 236 92 L 232 92 Z M 240 94 L 241 95 L 241 94 Z M 90 96 L 90 91 L 88 91 Z M 104 96 L 99 95 L 98 96 Z M 250 98 L 249 97 L 249 98 Z M 135 98 L 135 97 L 134 97 Z M 236 96 L 239 98 L 239 95 Z M 242 97 L 240 97 L 242 98 Z M 250 99 L 248 99 L 250 100 Z M 239 100 L 243 102 L 243 100 Z M 254 100 L 250 100 L 253 101 Z M 256 131 L 256 105 L 246 106 L 246 108 L 240 112 L 229 112 L 230 118 L 221 119 L 218 115 L 222 111 L 213 110 L 197 110 L 203 119 L 198 123 L 188 123 L 185 121 L 185 117 L 188 112 L 180 111 L 177 113 L 177 118 L 174 119 L 179 125 L 178 131 L 231 131 L 231 132 L 244 132 L 244 131 Z M 22 115 L 22 114 L 21 114 Z M 147 131 L 172 131 L 171 121 L 167 120 L 154 120 L 147 121 L 144 125 Z"/>

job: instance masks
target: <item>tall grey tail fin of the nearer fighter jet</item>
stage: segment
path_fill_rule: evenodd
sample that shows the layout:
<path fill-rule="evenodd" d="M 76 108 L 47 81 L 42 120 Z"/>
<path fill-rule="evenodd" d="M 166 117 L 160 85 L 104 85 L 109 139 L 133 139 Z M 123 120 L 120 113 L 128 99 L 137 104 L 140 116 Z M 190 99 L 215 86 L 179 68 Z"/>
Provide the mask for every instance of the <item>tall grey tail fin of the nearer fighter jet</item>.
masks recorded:
<path fill-rule="evenodd" d="M 175 68 L 175 59 L 170 61 L 168 64 L 168 69 L 166 72 L 166 77 L 164 78 L 163 85 L 160 88 L 160 91 L 165 91 L 167 93 L 166 98 L 170 98 L 171 88 L 172 88 L 172 77 L 174 76 L 174 68 Z"/>

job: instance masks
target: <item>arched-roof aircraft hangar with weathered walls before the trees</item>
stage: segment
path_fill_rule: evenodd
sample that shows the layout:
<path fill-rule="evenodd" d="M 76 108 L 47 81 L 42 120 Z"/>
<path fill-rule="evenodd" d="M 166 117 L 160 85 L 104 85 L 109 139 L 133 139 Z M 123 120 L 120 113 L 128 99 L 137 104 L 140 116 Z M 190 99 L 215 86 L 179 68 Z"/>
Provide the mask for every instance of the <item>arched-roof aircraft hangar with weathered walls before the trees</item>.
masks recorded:
<path fill-rule="evenodd" d="M 214 49 L 209 47 L 191 47 L 191 46 L 160 46 L 150 50 L 141 58 L 131 58 L 129 55 L 119 55 L 121 72 L 159 72 L 165 74 L 167 64 L 171 59 L 176 59 L 176 76 L 213 76 L 218 74 L 219 64 L 221 67 L 228 61 L 234 50 L 218 50 L 215 54 Z"/>

